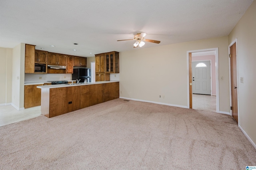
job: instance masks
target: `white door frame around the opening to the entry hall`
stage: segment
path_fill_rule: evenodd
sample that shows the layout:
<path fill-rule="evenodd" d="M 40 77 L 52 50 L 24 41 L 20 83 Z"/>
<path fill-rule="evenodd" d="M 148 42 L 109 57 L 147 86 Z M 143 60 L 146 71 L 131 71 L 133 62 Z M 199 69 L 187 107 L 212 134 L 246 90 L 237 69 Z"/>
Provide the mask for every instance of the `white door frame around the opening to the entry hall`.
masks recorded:
<path fill-rule="evenodd" d="M 216 112 L 220 113 L 220 99 L 219 99 L 219 51 L 218 48 L 208 48 L 208 49 L 197 49 L 187 51 L 187 107 L 190 108 L 190 99 L 192 100 L 192 91 L 190 93 L 190 71 L 192 73 L 192 61 L 189 59 L 189 54 L 194 52 L 202 51 L 215 51 L 215 64 L 216 64 Z M 191 68 L 190 68 L 191 67 Z M 191 77 L 192 78 L 192 77 Z M 191 82 L 192 83 L 192 82 Z M 191 88 L 192 90 L 192 88 Z M 191 96 L 190 96 L 191 95 Z M 191 101 L 192 103 L 192 101 Z"/>

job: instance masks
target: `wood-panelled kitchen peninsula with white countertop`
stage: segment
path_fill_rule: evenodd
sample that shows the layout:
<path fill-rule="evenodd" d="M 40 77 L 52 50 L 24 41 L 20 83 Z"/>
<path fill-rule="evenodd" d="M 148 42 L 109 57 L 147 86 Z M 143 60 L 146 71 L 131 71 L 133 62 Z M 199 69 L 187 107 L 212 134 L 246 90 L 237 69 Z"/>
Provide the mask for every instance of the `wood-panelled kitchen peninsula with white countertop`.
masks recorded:
<path fill-rule="evenodd" d="M 51 118 L 119 98 L 119 81 L 37 86 L 42 115 Z"/>

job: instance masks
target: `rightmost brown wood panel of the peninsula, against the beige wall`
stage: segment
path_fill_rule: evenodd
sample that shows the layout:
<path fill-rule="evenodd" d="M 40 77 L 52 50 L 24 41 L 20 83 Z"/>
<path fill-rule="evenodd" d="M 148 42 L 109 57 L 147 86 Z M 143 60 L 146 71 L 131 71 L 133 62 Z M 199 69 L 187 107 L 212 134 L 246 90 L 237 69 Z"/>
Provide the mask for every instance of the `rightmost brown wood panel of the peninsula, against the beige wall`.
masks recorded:
<path fill-rule="evenodd" d="M 104 83 L 104 102 L 119 98 L 119 82 Z"/>

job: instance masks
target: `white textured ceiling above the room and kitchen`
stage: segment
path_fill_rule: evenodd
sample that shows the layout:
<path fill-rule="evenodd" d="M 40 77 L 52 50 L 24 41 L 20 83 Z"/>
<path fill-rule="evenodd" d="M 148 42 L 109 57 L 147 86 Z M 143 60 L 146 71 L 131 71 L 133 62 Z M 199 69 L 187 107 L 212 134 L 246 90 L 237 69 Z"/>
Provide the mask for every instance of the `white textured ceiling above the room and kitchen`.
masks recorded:
<path fill-rule="evenodd" d="M 0 47 L 19 43 L 84 57 L 227 36 L 253 0 L 1 0 Z M 74 45 L 78 43 L 78 45 Z M 55 47 L 50 47 L 55 45 Z M 77 49 L 77 51 L 73 51 Z M 91 54 L 90 54 L 91 53 Z"/>

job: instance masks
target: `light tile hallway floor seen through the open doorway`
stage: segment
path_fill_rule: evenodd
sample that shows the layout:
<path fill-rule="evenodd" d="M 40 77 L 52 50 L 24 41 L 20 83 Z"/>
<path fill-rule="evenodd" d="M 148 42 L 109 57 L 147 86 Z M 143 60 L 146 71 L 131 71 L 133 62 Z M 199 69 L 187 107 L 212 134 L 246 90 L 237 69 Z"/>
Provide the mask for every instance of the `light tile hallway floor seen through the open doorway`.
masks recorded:
<path fill-rule="evenodd" d="M 193 94 L 192 108 L 216 112 L 216 96 Z"/>

